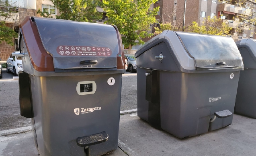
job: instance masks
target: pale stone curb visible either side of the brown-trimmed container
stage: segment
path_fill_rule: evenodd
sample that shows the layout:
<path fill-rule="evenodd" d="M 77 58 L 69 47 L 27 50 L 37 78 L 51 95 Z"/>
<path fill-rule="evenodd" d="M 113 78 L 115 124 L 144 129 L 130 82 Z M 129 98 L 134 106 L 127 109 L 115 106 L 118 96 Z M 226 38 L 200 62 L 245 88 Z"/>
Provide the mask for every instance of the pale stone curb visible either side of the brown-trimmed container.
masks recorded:
<path fill-rule="evenodd" d="M 124 114 L 132 114 L 137 112 L 137 108 L 133 109 L 133 110 L 124 110 L 124 111 L 120 111 L 120 115 L 124 115 Z M 10 129 L 10 130 L 2 130 L 0 131 L 0 136 L 8 136 L 11 134 L 19 134 L 19 133 L 24 133 L 24 132 L 28 132 L 31 131 L 31 126 L 27 126 L 27 127 L 21 127 L 21 128 L 14 128 L 14 129 Z"/>

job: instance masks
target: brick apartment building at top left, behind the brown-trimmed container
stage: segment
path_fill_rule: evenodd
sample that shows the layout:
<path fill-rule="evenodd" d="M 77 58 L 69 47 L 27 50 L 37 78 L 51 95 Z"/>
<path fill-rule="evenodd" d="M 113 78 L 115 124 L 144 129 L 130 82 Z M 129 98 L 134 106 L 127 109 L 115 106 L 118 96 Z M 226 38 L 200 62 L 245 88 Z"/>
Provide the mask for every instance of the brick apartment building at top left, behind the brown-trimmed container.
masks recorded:
<path fill-rule="evenodd" d="M 7 19 L 6 26 L 14 28 L 16 32 L 18 32 L 19 23 L 26 16 L 39 16 L 37 14 L 38 9 L 51 13 L 53 18 L 58 14 L 56 7 L 49 0 L 12 0 L 11 4 L 16 7 L 16 12 L 12 14 L 12 18 L 16 20 Z M 5 42 L 0 43 L 0 58 L 2 58 L 2 60 L 7 60 L 12 52 L 18 51 L 17 41 L 17 38 L 13 40 L 14 46 L 10 46 Z"/>

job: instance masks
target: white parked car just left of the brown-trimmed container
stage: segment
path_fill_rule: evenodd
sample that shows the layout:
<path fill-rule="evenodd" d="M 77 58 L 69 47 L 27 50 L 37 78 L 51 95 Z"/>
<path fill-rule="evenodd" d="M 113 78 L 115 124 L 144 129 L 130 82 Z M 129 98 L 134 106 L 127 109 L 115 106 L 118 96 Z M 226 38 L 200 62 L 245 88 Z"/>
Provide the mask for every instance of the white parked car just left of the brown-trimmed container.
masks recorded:
<path fill-rule="evenodd" d="M 21 57 L 12 56 L 11 54 L 8 60 L 6 61 L 6 72 L 13 72 L 14 76 L 18 76 L 19 71 L 23 71 Z"/>

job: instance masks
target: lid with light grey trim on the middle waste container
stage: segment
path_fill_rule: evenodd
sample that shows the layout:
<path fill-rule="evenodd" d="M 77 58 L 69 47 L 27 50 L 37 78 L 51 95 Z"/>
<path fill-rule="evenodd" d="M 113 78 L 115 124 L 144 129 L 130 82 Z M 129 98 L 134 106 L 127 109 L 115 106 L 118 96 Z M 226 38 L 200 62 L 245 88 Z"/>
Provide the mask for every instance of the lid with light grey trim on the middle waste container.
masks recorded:
<path fill-rule="evenodd" d="M 135 57 L 155 46 L 158 40 L 168 43 L 172 50 L 170 52 L 178 60 L 177 66 L 185 70 L 243 68 L 242 57 L 232 38 L 170 30 L 165 30 L 141 46 Z M 225 64 L 217 64 L 221 62 Z"/>

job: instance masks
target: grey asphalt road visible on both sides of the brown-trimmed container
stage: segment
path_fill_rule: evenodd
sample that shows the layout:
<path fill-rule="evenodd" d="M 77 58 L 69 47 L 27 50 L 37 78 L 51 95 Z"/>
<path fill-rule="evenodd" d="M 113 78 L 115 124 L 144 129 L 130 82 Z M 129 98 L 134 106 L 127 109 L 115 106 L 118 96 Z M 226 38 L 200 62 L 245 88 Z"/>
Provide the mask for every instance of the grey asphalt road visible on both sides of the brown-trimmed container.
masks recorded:
<path fill-rule="evenodd" d="M 31 125 L 30 119 L 20 116 L 18 81 L 13 80 L 14 74 L 3 69 L 0 79 L 0 131 Z M 7 82 L 12 80 L 12 82 Z M 121 111 L 137 108 L 137 76 L 136 73 L 123 74 Z"/>

